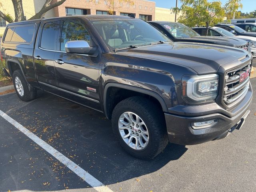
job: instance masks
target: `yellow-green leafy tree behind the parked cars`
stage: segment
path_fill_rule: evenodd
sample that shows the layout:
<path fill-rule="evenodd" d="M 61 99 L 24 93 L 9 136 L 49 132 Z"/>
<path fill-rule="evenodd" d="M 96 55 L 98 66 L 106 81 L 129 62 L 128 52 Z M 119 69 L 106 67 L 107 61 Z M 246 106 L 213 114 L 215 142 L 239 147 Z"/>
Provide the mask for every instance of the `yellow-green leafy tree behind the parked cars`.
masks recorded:
<path fill-rule="evenodd" d="M 208 0 L 180 0 L 182 3 L 180 8 L 172 7 L 172 12 L 181 12 L 182 16 L 178 18 L 178 22 L 189 27 L 206 26 L 207 33 L 209 26 L 214 26 L 218 22 L 222 22 L 225 11 L 220 1 L 208 2 Z"/>

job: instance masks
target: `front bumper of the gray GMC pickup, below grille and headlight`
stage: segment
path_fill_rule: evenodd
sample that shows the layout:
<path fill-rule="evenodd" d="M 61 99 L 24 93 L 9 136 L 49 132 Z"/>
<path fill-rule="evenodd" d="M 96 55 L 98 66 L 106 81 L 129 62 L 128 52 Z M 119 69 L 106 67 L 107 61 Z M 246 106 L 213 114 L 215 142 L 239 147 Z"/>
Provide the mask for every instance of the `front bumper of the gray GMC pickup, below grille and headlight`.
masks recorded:
<path fill-rule="evenodd" d="M 194 145 L 226 137 L 229 132 L 239 128 L 244 122 L 244 118 L 250 113 L 249 107 L 252 102 L 252 92 L 248 94 L 250 94 L 250 99 L 247 100 L 246 105 L 238 114 L 232 117 L 216 112 L 204 116 L 192 116 L 193 114 L 181 116 L 165 113 L 169 142 L 180 145 Z M 191 126 L 193 122 L 214 119 L 218 119 L 218 122 L 209 128 L 193 129 Z"/>

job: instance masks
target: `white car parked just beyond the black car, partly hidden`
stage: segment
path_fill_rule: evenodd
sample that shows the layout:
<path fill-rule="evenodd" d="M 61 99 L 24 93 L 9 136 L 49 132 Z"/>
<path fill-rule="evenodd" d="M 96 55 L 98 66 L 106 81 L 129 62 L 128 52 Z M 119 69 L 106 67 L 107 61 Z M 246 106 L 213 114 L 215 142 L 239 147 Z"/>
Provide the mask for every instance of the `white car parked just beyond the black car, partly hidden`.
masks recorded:
<path fill-rule="evenodd" d="M 192 29 L 200 35 L 206 35 L 206 27 L 193 27 Z M 256 57 L 256 37 L 235 35 L 220 27 L 209 28 L 208 36 L 233 37 L 245 40 L 248 42 L 248 51 L 253 57 Z"/>

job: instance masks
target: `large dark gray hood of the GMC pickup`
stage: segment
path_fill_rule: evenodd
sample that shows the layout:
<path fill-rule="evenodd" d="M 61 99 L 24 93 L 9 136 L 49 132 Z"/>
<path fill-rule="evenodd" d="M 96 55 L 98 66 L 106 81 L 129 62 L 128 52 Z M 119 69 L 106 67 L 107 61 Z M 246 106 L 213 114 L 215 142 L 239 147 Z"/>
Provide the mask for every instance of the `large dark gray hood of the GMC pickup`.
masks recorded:
<path fill-rule="evenodd" d="M 210 74 L 216 73 L 221 65 L 245 57 L 248 52 L 240 48 L 174 42 L 141 46 L 117 54 L 183 65 L 198 74 Z"/>

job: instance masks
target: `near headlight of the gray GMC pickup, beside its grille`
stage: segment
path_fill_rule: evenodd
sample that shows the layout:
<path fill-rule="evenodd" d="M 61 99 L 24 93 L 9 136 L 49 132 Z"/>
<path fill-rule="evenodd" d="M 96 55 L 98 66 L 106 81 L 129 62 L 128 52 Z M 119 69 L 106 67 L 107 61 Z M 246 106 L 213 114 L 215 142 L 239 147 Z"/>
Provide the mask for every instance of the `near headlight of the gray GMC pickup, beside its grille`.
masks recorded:
<path fill-rule="evenodd" d="M 217 74 L 184 76 L 182 78 L 182 97 L 188 103 L 215 100 L 218 95 L 218 82 Z"/>

